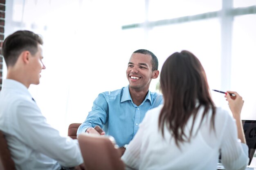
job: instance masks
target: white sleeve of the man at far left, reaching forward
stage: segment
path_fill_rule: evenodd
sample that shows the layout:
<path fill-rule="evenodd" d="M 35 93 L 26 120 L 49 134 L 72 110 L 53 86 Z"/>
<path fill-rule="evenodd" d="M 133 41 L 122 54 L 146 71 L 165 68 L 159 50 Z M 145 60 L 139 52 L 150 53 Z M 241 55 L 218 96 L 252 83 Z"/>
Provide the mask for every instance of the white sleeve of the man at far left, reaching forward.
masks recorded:
<path fill-rule="evenodd" d="M 83 163 L 77 140 L 61 137 L 58 130 L 50 126 L 34 102 L 22 101 L 16 108 L 18 138 L 36 150 L 60 163 L 63 167 L 74 167 Z"/>

